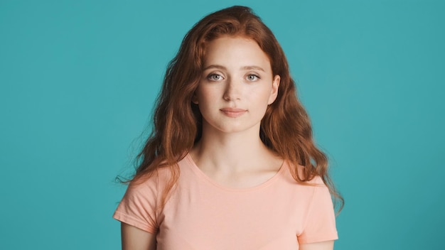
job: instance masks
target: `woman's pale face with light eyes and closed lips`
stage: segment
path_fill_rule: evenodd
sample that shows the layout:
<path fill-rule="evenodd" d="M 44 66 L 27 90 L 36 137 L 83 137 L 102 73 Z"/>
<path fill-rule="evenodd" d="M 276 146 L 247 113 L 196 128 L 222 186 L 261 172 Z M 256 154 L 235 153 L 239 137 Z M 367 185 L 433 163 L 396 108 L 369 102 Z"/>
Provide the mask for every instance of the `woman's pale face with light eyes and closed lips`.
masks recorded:
<path fill-rule="evenodd" d="M 279 75 L 251 39 L 223 36 L 208 43 L 204 70 L 193 96 L 203 133 L 259 131 L 267 105 L 277 98 Z"/>

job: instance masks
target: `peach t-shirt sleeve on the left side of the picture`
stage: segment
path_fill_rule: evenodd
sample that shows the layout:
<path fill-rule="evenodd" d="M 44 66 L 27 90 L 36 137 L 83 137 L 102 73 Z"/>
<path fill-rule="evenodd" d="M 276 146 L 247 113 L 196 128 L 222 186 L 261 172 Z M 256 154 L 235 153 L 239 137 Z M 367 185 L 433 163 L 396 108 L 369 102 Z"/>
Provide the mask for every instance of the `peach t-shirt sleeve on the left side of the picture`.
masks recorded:
<path fill-rule="evenodd" d="M 130 183 L 113 218 L 151 234 L 156 233 L 157 183 L 156 175 L 141 184 Z"/>

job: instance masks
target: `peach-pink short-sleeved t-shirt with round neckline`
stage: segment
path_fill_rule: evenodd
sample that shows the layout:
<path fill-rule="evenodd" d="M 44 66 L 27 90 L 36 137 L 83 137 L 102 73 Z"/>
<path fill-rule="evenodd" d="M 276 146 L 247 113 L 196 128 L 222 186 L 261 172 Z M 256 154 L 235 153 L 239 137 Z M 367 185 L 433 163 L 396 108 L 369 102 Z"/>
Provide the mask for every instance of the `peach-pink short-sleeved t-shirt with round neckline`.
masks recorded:
<path fill-rule="evenodd" d="M 253 188 L 225 188 L 208 178 L 190 155 L 179 163 L 176 188 L 161 206 L 168 168 L 130 185 L 114 219 L 156 234 L 157 249 L 299 249 L 338 239 L 328 188 L 321 178 L 301 185 L 284 164 Z"/>

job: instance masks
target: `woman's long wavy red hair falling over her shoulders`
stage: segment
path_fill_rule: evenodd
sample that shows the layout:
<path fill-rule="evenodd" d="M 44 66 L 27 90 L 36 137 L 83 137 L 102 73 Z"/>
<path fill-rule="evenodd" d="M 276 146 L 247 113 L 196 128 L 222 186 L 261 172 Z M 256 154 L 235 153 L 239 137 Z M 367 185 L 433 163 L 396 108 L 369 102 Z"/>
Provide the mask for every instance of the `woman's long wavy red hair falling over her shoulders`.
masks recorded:
<path fill-rule="evenodd" d="M 202 116 L 192 97 L 203 72 L 205 48 L 220 36 L 250 38 L 269 57 L 273 75 L 279 75 L 277 99 L 267 107 L 259 136 L 270 150 L 289 161 L 294 179 L 305 183 L 320 176 L 333 195 L 336 207 L 343 197 L 328 175 L 328 159 L 312 136 L 311 122 L 296 94 L 286 56 L 272 31 L 252 9 L 232 6 L 202 18 L 183 38 L 178 53 L 169 62 L 161 93 L 154 109 L 151 134 L 138 155 L 136 174 L 131 183 L 141 183 L 157 168 L 168 167 L 172 177 L 163 194 L 164 202 L 179 176 L 178 161 L 199 141 Z M 299 173 L 297 165 L 304 166 Z"/>

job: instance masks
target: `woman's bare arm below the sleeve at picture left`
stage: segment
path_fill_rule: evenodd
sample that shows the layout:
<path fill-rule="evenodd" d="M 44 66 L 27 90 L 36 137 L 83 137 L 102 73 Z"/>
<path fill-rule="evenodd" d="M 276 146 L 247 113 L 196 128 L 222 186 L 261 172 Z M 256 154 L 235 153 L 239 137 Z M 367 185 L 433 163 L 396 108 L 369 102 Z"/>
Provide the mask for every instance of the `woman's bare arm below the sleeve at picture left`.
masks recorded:
<path fill-rule="evenodd" d="M 122 250 L 155 250 L 156 235 L 137 227 L 121 223 Z"/>

